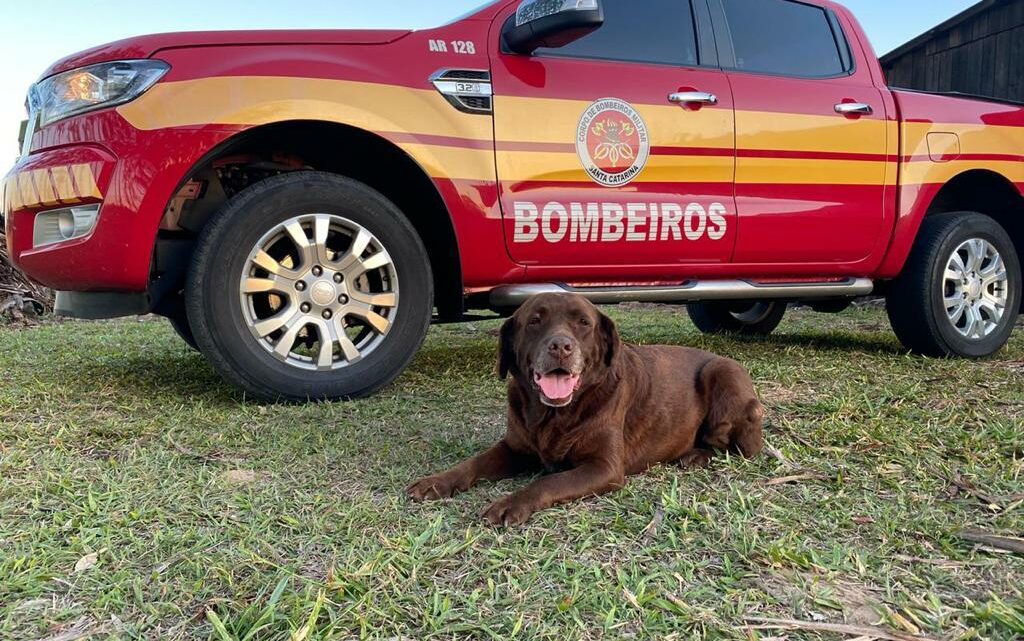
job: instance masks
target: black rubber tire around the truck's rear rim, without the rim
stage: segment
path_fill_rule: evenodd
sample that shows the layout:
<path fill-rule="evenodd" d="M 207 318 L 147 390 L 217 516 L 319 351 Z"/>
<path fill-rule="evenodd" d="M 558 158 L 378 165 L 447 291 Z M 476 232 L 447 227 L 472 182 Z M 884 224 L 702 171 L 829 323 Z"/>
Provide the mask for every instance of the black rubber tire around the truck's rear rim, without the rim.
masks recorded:
<path fill-rule="evenodd" d="M 950 322 L 944 273 L 953 252 L 971 239 L 990 243 L 1007 269 L 1008 304 L 998 326 L 984 338 L 969 339 Z M 1021 265 L 1014 243 L 997 222 L 975 212 L 951 212 L 925 219 L 903 272 L 892 282 L 887 310 L 893 331 L 908 349 L 928 356 L 981 358 L 1001 349 L 1021 308 Z"/>

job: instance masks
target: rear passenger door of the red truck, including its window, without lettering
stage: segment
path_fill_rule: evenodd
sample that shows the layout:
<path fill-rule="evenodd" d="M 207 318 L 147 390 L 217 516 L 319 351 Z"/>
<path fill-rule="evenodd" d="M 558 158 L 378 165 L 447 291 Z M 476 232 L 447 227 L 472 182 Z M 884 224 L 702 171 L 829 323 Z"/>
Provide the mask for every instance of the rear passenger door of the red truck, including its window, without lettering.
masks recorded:
<path fill-rule="evenodd" d="M 863 49 L 830 9 L 711 5 L 736 106 L 733 262 L 853 268 L 888 239 L 887 155 L 896 153 Z"/>

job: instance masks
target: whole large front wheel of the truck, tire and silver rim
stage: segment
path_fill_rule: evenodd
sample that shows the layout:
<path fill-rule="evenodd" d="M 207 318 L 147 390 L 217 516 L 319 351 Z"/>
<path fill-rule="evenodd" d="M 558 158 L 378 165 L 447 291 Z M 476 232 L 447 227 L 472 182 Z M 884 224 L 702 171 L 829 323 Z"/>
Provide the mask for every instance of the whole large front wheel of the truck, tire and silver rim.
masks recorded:
<path fill-rule="evenodd" d="M 203 229 L 185 289 L 197 343 L 264 400 L 368 396 L 409 365 L 433 305 L 430 262 L 367 185 L 296 172 L 231 199 Z"/>

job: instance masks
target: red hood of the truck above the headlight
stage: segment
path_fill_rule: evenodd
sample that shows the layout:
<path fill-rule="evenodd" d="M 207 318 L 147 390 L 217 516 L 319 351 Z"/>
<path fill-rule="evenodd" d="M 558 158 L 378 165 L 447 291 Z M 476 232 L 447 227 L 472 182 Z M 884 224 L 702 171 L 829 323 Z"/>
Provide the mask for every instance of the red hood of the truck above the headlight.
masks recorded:
<path fill-rule="evenodd" d="M 118 40 L 69 55 L 47 69 L 42 78 L 87 65 L 147 58 L 163 49 L 222 45 L 288 44 L 388 44 L 408 36 L 409 30 L 297 30 L 297 31 L 199 31 L 155 34 Z"/>

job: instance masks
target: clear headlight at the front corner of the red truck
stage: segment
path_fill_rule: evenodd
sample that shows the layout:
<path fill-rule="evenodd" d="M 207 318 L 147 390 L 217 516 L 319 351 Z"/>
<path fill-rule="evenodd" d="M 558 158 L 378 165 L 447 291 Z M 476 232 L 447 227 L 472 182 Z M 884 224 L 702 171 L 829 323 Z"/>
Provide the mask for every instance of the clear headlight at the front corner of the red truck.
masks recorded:
<path fill-rule="evenodd" d="M 50 76 L 29 92 L 38 127 L 134 100 L 170 70 L 162 60 L 102 62 Z"/>

